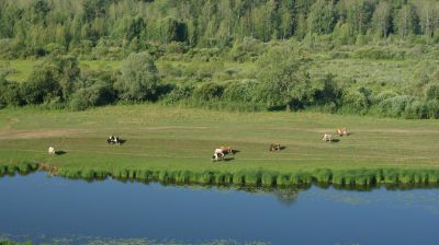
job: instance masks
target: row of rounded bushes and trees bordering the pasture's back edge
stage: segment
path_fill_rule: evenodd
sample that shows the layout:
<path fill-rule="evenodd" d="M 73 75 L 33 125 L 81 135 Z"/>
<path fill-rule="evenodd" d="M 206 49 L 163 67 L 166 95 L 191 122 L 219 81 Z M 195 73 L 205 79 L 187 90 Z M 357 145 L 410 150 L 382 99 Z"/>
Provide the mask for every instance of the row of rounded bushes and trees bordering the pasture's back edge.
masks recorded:
<path fill-rule="evenodd" d="M 303 110 L 439 118 L 439 75 L 417 93 L 397 93 L 338 83 L 334 75 L 313 75 L 294 49 L 273 47 L 257 60 L 251 79 L 169 83 L 155 57 L 133 52 L 119 70 L 81 70 L 72 56 L 48 56 L 23 82 L 0 72 L 0 108 L 38 105 L 82 110 L 116 103 L 161 103 L 227 110 Z"/>

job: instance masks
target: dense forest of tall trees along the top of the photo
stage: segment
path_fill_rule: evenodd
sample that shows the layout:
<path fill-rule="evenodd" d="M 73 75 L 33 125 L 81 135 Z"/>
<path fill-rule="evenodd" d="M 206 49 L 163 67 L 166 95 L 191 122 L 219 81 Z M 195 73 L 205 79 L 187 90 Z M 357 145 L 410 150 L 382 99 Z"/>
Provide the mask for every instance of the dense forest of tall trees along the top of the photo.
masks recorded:
<path fill-rule="evenodd" d="M 436 0 L 2 0 L 0 54 L 87 54 L 93 47 L 139 51 L 181 42 L 230 47 L 328 35 L 338 44 L 363 36 L 439 40 Z"/>

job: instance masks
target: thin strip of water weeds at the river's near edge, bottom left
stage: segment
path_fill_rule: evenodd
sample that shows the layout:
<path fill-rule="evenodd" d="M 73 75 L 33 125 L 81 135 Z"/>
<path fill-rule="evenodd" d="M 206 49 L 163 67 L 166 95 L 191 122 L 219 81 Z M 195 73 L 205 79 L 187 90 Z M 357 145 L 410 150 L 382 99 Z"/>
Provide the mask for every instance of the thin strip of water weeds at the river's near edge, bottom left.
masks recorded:
<path fill-rule="evenodd" d="M 49 237 L 45 234 L 32 237 L 30 235 L 10 235 L 0 234 L 0 245 L 31 245 L 32 242 L 15 242 L 15 241 L 31 241 L 34 240 L 35 244 L 56 244 L 56 245 L 70 245 L 70 244 L 89 244 L 89 245 L 266 245 L 264 242 L 237 242 L 234 240 L 214 240 L 205 242 L 182 242 L 177 240 L 148 240 L 148 238 L 103 238 L 92 236 L 71 235 L 66 237 Z"/>

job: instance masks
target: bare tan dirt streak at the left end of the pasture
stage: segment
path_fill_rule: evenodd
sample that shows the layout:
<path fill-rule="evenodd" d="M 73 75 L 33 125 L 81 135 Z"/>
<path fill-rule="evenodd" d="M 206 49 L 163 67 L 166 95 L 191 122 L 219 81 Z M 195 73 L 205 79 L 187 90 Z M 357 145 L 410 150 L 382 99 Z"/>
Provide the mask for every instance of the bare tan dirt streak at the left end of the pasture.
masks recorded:
<path fill-rule="evenodd" d="M 5 130 L 0 131 L 0 139 L 41 139 L 69 137 L 90 132 L 89 130 L 56 129 L 56 130 Z"/>

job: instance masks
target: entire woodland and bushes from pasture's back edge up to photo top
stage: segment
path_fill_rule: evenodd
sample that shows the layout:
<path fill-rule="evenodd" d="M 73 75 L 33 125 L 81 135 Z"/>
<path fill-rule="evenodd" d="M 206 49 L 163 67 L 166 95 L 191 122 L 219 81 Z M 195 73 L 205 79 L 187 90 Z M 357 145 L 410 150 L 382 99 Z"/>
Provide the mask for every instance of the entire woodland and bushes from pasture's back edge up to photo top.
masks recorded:
<path fill-rule="evenodd" d="M 438 43 L 436 0 L 2 0 L 0 59 L 42 62 L 25 82 L 0 66 L 0 107 L 153 101 L 439 118 Z M 431 62 L 399 84 L 312 71 L 337 58 Z M 123 61 L 80 69 L 97 59 Z M 158 60 L 212 66 L 190 73 Z"/>

